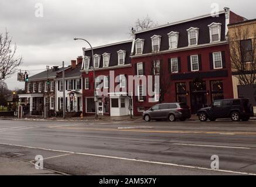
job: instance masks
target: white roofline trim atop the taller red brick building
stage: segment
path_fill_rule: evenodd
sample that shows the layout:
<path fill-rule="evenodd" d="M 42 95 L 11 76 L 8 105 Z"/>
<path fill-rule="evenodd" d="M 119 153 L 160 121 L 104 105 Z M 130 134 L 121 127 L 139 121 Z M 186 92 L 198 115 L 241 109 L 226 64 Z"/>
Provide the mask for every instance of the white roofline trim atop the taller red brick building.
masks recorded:
<path fill-rule="evenodd" d="M 208 14 L 206 14 L 206 15 L 197 16 L 197 17 L 190 18 L 190 19 L 183 19 L 183 20 L 180 20 L 180 21 L 178 21 L 178 22 L 168 23 L 168 24 L 165 24 L 165 25 L 156 26 L 156 27 L 152 27 L 152 28 L 149 28 L 149 29 L 139 30 L 139 31 L 136 31 L 134 34 L 144 33 L 144 32 L 148 32 L 149 30 L 160 29 L 160 28 L 162 28 L 162 27 L 168 27 L 168 26 L 172 26 L 172 25 L 178 25 L 178 24 L 180 24 L 180 23 L 185 23 L 185 22 L 190 22 L 190 21 L 192 21 L 192 20 L 207 18 L 207 17 L 209 17 L 209 16 L 220 15 L 220 14 L 222 14 L 222 13 L 225 13 L 225 11 L 219 11 L 219 12 L 214 13 L 214 14 L 208 13 Z"/>

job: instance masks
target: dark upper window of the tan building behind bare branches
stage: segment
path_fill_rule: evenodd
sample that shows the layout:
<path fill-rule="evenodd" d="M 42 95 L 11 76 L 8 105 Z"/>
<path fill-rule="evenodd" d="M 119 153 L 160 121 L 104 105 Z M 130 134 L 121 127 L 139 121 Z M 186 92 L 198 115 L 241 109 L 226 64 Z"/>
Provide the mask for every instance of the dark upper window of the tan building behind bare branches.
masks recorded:
<path fill-rule="evenodd" d="M 252 52 L 252 43 L 251 39 L 249 40 L 241 40 L 241 58 L 243 63 L 252 62 L 253 61 L 253 52 Z"/>

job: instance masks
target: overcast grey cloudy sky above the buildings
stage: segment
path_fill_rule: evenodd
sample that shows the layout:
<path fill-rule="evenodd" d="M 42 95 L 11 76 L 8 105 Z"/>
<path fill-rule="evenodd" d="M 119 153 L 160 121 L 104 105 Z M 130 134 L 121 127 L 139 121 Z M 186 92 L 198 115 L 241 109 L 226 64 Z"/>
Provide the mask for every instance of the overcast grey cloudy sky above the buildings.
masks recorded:
<path fill-rule="evenodd" d="M 43 17 L 35 16 L 37 3 Z M 0 0 L 0 33 L 8 29 L 23 56 L 22 70 L 36 74 L 46 65 L 60 65 L 81 56 L 82 41 L 93 46 L 129 39 L 128 28 L 149 15 L 158 25 L 211 12 L 211 4 L 227 6 L 247 19 L 256 18 L 255 0 Z M 16 75 L 6 79 L 9 89 L 23 88 Z"/>

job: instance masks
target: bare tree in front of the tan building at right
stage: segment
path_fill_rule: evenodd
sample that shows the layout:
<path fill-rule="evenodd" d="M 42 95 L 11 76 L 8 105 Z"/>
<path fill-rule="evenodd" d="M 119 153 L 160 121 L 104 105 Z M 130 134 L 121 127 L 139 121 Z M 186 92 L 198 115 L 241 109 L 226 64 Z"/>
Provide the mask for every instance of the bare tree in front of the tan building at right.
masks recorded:
<path fill-rule="evenodd" d="M 228 34 L 228 40 L 232 71 L 235 72 L 240 85 L 256 84 L 255 27 L 236 27 Z"/>

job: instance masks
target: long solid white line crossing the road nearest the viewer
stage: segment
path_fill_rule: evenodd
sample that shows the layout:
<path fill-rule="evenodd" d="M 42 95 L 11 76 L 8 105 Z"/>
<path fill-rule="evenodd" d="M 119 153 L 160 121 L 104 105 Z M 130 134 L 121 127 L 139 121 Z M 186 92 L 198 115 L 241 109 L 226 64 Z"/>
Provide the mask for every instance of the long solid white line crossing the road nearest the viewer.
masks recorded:
<path fill-rule="evenodd" d="M 227 173 L 232 173 L 232 174 L 256 175 L 256 174 L 248 173 L 248 172 L 231 171 L 231 170 L 225 170 L 225 169 L 210 169 L 210 168 L 196 167 L 196 166 L 190 166 L 190 165 L 172 164 L 172 163 L 168 163 L 168 162 L 156 162 L 156 161 L 148 161 L 148 160 L 138 160 L 138 159 L 134 159 L 134 158 L 112 157 L 112 156 L 108 156 L 108 155 L 78 153 L 78 152 L 73 152 L 73 151 L 62 151 L 62 150 L 52 150 L 49 148 L 21 146 L 21 145 L 16 145 L 16 144 L 6 144 L 6 143 L 0 143 L 0 144 L 6 145 L 6 146 L 18 146 L 18 147 L 24 147 L 24 148 L 35 148 L 35 149 L 46 150 L 46 151 L 56 151 L 56 152 L 61 152 L 61 153 L 80 154 L 80 155 L 87 155 L 87 156 L 92 156 L 92 157 L 103 157 L 103 158 L 113 158 L 113 159 L 118 159 L 118 160 L 144 162 L 144 163 L 149 163 L 149 164 L 169 165 L 169 166 L 174 166 L 174 167 L 202 169 L 202 170 L 216 171 L 216 172 L 227 172 Z"/>

